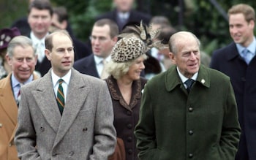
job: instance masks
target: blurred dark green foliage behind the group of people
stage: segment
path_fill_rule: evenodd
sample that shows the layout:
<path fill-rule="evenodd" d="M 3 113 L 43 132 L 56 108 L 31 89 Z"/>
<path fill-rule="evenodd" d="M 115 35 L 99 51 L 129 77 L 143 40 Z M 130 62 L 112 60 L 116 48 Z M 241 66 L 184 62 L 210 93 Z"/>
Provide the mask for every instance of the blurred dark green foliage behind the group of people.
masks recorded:
<path fill-rule="evenodd" d="M 50 0 L 53 7 L 64 6 L 69 23 L 78 39 L 86 42 L 94 18 L 113 8 L 113 0 Z M 165 15 L 178 30 L 192 31 L 202 42 L 202 49 L 211 52 L 232 41 L 228 31 L 227 9 L 245 3 L 256 9 L 252 0 L 135 0 L 135 9 L 152 16 Z M 28 0 L 0 1 L 0 28 L 10 27 L 14 20 L 25 17 Z"/>

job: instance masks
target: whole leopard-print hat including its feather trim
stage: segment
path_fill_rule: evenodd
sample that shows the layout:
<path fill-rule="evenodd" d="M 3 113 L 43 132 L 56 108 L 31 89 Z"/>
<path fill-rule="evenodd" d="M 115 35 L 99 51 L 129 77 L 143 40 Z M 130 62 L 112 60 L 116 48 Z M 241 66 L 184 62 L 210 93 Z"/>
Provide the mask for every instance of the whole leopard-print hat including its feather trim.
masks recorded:
<path fill-rule="evenodd" d="M 141 21 L 140 26 L 129 26 L 129 29 L 132 31 L 118 36 L 121 39 L 116 42 L 111 52 L 114 62 L 131 61 L 146 54 L 151 47 L 158 49 L 165 47 L 161 41 L 155 40 L 159 35 L 159 29 L 153 30 L 152 24 L 148 27 Z"/>

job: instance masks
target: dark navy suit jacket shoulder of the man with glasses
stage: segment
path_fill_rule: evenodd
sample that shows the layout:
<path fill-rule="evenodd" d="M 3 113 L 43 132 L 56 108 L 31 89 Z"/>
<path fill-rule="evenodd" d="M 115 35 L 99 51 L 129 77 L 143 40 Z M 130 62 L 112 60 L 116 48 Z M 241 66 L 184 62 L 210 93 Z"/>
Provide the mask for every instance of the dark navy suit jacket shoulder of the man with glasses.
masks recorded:
<path fill-rule="evenodd" d="M 97 72 L 96 64 L 94 61 L 94 54 L 75 61 L 74 68 L 77 69 L 80 73 L 99 77 L 99 73 Z"/>

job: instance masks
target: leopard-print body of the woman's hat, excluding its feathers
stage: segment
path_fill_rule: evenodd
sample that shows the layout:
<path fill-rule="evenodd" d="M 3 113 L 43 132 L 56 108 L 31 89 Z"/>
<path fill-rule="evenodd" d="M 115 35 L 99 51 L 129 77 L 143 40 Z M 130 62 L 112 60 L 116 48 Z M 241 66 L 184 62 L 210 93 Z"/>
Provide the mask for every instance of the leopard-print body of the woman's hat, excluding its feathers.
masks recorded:
<path fill-rule="evenodd" d="M 131 61 L 146 53 L 146 44 L 138 37 L 124 37 L 113 47 L 111 58 L 115 62 Z"/>

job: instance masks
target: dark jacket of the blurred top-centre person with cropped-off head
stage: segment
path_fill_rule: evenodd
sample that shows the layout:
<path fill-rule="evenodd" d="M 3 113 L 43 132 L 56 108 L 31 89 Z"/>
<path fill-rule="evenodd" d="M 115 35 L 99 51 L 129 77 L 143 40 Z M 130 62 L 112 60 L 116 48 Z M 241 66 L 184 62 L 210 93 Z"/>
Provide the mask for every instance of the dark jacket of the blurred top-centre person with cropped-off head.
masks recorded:
<path fill-rule="evenodd" d="M 122 30 L 123 26 L 121 26 L 120 23 L 118 23 L 118 14 L 117 14 L 117 10 L 114 9 L 113 11 L 110 12 L 106 12 L 103 15 L 99 15 L 96 20 L 99 19 L 103 19 L 103 18 L 108 18 L 110 20 L 113 20 L 117 23 L 119 31 Z M 143 20 L 143 23 L 148 24 L 149 21 L 151 20 L 151 15 L 147 15 L 143 12 L 138 12 L 134 9 L 131 10 L 130 15 L 129 15 L 129 19 L 127 21 L 128 22 L 136 22 L 136 23 L 140 23 L 140 21 Z"/>

